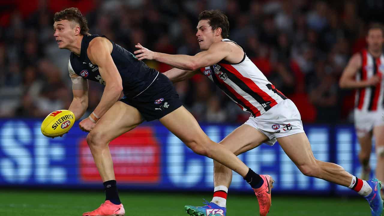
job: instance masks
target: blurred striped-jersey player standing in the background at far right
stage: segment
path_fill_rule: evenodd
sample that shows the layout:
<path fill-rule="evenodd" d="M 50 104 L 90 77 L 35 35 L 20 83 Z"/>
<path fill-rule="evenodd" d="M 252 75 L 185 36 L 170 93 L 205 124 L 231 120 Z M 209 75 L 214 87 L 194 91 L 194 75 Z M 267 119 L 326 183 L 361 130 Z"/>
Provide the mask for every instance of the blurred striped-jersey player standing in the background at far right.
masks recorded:
<path fill-rule="evenodd" d="M 340 78 L 341 88 L 356 91 L 354 123 L 361 150 L 359 161 L 362 166 L 361 179 L 369 179 L 371 167 L 369 158 L 372 150 L 372 136 L 375 137 L 377 155 L 376 177 L 384 180 L 384 29 L 375 23 L 367 32 L 367 48 L 356 53 L 349 60 Z M 381 190 L 383 195 L 383 190 Z"/>

